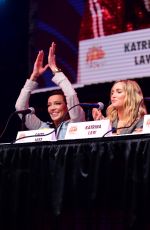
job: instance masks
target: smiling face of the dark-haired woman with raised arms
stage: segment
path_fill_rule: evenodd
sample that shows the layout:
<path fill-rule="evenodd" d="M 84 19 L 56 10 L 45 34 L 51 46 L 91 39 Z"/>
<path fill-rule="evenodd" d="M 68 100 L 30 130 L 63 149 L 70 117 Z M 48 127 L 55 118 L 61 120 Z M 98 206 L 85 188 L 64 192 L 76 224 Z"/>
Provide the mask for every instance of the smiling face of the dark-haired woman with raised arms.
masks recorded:
<path fill-rule="evenodd" d="M 67 105 L 63 95 L 52 95 L 48 98 L 48 113 L 55 126 L 58 126 L 67 113 Z"/>

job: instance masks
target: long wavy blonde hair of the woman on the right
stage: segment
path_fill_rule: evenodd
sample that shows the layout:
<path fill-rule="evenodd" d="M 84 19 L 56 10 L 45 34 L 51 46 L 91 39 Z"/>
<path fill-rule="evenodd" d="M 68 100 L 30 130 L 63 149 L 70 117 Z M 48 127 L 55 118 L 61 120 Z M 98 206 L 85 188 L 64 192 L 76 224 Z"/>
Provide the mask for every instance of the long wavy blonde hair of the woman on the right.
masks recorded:
<path fill-rule="evenodd" d="M 118 82 L 122 83 L 123 90 L 126 93 L 124 101 L 124 115 L 127 118 L 127 124 L 130 125 L 134 120 L 140 119 L 147 114 L 143 100 L 143 93 L 136 81 L 120 80 L 115 82 L 114 85 Z M 106 114 L 111 122 L 118 118 L 117 109 L 114 108 L 112 104 L 108 106 Z"/>

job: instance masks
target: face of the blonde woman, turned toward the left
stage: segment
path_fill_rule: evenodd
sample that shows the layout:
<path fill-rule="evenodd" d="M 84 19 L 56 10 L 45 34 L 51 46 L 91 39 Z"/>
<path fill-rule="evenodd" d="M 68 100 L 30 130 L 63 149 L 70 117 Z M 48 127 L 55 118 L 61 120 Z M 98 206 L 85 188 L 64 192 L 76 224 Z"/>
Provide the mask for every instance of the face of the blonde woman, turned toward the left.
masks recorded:
<path fill-rule="evenodd" d="M 123 109 L 125 104 L 125 97 L 126 97 L 126 92 L 125 92 L 124 83 L 122 82 L 115 83 L 111 89 L 111 96 L 110 96 L 113 107 L 116 109 Z"/>

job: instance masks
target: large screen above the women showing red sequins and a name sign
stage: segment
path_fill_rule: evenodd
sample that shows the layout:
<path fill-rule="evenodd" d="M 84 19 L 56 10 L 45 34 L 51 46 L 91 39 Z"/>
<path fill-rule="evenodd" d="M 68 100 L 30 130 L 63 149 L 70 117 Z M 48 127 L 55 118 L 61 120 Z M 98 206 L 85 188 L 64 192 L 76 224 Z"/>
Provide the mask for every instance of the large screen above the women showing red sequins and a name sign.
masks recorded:
<path fill-rule="evenodd" d="M 31 68 L 55 41 L 58 66 L 77 87 L 150 75 L 149 0 L 33 1 L 30 19 Z M 54 86 L 49 74 L 40 89 Z"/>

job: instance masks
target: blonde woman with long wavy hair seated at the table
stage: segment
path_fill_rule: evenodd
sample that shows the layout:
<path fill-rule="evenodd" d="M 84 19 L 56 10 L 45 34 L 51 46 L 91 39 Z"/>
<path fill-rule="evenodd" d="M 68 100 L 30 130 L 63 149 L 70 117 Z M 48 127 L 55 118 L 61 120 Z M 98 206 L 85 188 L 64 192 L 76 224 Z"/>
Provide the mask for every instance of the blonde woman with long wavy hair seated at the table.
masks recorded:
<path fill-rule="evenodd" d="M 106 110 L 116 134 L 140 132 L 143 118 L 147 114 L 140 86 L 133 80 L 121 80 L 114 83 L 110 93 L 111 104 Z M 94 120 L 104 119 L 101 111 L 92 110 Z"/>

